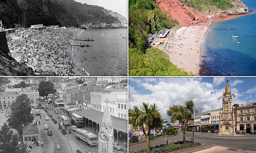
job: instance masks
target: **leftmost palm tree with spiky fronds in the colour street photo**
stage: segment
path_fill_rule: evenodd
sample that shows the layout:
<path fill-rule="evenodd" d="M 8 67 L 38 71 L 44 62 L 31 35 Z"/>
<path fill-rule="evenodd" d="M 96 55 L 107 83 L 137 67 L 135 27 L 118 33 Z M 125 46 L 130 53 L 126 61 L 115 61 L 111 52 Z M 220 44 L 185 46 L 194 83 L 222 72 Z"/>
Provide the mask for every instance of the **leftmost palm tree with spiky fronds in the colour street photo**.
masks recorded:
<path fill-rule="evenodd" d="M 153 105 L 149 105 L 149 103 L 142 102 L 140 109 L 138 106 L 134 106 L 133 108 L 134 112 L 129 113 L 129 124 L 132 125 L 132 127 L 142 128 L 144 135 L 147 137 L 147 149 L 148 151 L 151 151 L 149 135 L 151 133 L 151 129 L 162 128 L 163 119 L 161 113 L 155 103 Z M 149 129 L 147 134 L 144 126 Z"/>

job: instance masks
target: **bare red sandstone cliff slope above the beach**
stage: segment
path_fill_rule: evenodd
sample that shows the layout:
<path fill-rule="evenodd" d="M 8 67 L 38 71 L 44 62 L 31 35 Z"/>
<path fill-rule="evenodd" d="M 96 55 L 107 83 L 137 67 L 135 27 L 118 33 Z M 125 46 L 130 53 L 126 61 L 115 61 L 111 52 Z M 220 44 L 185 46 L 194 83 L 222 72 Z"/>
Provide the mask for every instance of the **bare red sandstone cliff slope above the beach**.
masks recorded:
<path fill-rule="evenodd" d="M 198 10 L 185 6 L 179 0 L 155 0 L 168 17 L 177 20 L 182 26 L 192 26 L 206 22 L 206 16 Z"/>

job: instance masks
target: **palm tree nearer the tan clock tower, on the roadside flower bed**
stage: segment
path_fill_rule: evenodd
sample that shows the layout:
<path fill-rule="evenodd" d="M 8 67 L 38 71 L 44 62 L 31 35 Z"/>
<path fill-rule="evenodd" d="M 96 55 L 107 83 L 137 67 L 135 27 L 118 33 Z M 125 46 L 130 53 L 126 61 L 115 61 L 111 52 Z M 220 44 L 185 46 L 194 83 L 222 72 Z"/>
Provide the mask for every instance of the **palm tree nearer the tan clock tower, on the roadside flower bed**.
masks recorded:
<path fill-rule="evenodd" d="M 186 127 L 188 125 L 188 121 L 192 118 L 194 114 L 194 103 L 193 100 L 185 101 L 184 106 L 182 105 L 174 105 L 167 110 L 167 115 L 171 117 L 171 122 L 175 123 L 176 121 L 180 121 L 183 128 L 183 143 L 186 142 Z"/>

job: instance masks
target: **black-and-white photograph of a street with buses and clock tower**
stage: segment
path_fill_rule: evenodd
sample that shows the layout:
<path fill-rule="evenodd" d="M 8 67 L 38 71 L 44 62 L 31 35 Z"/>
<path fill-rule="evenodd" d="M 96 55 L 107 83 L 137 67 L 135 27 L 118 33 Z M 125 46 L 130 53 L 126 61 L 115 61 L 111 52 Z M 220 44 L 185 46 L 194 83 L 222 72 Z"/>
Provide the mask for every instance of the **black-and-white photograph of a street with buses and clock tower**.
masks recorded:
<path fill-rule="evenodd" d="M 127 153 L 127 122 L 127 77 L 0 77 L 1 153 Z"/>

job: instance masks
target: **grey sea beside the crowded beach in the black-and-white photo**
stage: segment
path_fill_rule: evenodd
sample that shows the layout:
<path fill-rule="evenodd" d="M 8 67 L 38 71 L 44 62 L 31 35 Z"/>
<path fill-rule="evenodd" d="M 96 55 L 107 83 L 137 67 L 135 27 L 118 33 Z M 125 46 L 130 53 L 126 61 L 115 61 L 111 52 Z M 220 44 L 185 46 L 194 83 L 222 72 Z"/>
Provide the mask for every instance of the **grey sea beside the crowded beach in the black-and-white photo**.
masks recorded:
<path fill-rule="evenodd" d="M 89 45 L 73 46 L 71 58 L 76 67 L 85 68 L 91 76 L 127 76 L 127 36 L 127 28 L 87 28 L 76 39 L 95 41 L 71 40 L 72 45 Z"/>

